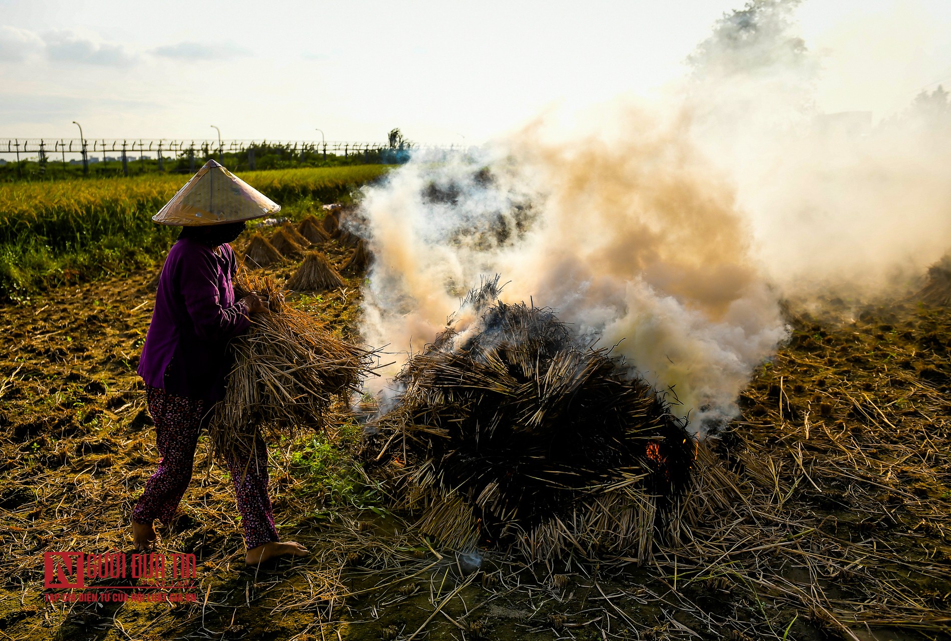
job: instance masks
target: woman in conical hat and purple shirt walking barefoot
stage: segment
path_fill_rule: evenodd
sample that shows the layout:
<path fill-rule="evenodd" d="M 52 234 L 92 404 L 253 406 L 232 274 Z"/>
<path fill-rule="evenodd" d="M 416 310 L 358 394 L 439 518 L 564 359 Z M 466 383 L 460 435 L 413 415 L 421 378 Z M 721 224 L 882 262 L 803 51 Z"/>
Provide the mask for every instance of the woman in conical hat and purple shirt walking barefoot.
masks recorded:
<path fill-rule="evenodd" d="M 231 243 L 244 221 L 279 211 L 253 187 L 209 161 L 152 220 L 182 226 L 165 259 L 155 310 L 139 362 L 148 412 L 162 460 L 132 511 L 132 539 L 149 550 L 153 522 L 175 515 L 191 480 L 195 447 L 212 406 L 223 398 L 230 369 L 227 343 L 267 313 L 254 293 L 235 300 L 237 270 Z M 306 549 L 280 542 L 267 494 L 267 448 L 257 439 L 250 457 L 226 459 L 242 515 L 245 561 L 257 565 L 275 556 L 302 556 Z"/>

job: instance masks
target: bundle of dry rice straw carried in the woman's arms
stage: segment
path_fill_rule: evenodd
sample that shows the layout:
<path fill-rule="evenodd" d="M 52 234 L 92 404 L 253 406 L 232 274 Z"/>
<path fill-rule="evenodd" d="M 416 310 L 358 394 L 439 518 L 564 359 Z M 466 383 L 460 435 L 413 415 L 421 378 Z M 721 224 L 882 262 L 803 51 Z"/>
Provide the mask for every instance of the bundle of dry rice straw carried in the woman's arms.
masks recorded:
<path fill-rule="evenodd" d="M 250 331 L 229 346 L 234 366 L 209 424 L 219 455 L 252 452 L 258 431 L 276 438 L 323 428 L 334 400 L 358 391 L 375 358 L 284 303 L 273 278 L 242 271 L 235 284 L 268 301 L 270 313 L 254 315 Z"/>

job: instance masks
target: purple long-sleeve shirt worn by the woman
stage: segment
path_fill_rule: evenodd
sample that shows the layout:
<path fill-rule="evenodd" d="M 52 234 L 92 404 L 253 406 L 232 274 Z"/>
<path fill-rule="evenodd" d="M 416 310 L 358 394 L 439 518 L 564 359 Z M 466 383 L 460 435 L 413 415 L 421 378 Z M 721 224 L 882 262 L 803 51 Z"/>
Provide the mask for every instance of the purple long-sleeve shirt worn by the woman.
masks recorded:
<path fill-rule="evenodd" d="M 228 244 L 219 249 L 221 256 L 203 243 L 182 239 L 169 250 L 139 360 L 146 385 L 209 402 L 223 397 L 231 364 L 228 340 L 251 321 L 244 303 L 235 301 L 234 251 Z"/>

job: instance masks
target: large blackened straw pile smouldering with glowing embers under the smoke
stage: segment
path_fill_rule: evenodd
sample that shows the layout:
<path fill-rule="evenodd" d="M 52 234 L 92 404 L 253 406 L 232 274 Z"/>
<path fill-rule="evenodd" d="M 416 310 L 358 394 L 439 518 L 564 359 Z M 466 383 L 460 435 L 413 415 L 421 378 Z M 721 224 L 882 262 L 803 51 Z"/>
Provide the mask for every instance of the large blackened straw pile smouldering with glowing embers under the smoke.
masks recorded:
<path fill-rule="evenodd" d="M 493 541 L 549 560 L 646 553 L 685 490 L 694 443 L 664 399 L 547 308 L 472 292 L 468 329 L 447 328 L 398 376 L 374 452 L 423 532 L 450 547 Z M 643 557 L 643 556 L 641 556 Z"/>

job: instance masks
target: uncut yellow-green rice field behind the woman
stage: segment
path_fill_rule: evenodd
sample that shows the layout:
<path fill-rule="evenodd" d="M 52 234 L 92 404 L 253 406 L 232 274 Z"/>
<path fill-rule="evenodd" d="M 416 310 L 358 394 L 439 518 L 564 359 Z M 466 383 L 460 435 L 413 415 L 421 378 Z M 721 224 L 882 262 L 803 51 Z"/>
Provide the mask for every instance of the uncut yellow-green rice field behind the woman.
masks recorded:
<path fill-rule="evenodd" d="M 300 216 L 383 175 L 386 165 L 248 171 L 241 178 Z M 0 185 L 0 300 L 154 263 L 177 228 L 151 217 L 187 181 L 181 175 Z"/>

